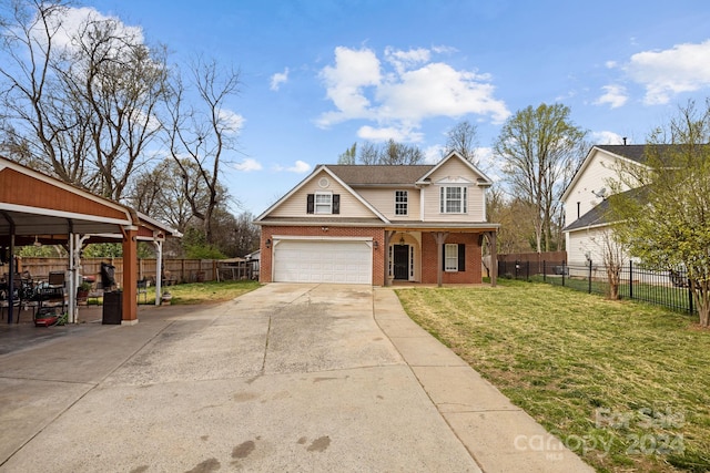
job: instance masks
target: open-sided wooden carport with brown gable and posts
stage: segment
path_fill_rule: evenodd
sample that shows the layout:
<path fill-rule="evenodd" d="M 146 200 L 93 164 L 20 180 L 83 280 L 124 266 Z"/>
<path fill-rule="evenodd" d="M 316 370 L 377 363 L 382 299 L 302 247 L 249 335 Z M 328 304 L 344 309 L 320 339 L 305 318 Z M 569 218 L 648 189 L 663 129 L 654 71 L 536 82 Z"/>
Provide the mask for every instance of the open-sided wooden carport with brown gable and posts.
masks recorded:
<path fill-rule="evenodd" d="M 162 265 L 162 244 L 180 236 L 159 222 L 130 207 L 99 197 L 45 174 L 0 156 L 0 249 L 12 256 L 17 246 L 36 241 L 63 245 L 69 251 L 69 321 L 77 321 L 77 287 L 81 277 L 83 245 L 121 241 L 123 248 L 122 323 L 138 322 L 138 241 L 150 240 Z M 13 285 L 14 258 L 8 258 L 8 286 Z M 155 304 L 160 304 L 160 271 Z M 9 291 L 10 298 L 12 290 Z M 12 322 L 12 300 L 8 308 Z"/>

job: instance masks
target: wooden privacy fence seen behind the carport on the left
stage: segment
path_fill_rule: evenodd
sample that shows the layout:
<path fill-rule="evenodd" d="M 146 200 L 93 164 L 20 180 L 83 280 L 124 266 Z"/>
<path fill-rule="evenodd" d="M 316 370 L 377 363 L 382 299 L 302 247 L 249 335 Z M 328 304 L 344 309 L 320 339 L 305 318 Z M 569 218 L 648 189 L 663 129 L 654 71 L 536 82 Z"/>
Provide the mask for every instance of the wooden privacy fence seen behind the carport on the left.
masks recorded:
<path fill-rule="evenodd" d="M 114 278 L 119 286 L 123 281 L 123 259 L 121 258 L 83 258 L 80 274 L 93 276 L 101 280 L 101 264 L 115 267 Z M 155 258 L 141 258 L 138 261 L 139 279 L 154 279 L 158 275 Z M 164 284 L 202 282 L 217 279 L 217 259 L 163 259 Z M 68 258 L 18 258 L 19 273 L 29 271 L 33 279 L 47 279 L 51 271 L 69 269 Z M 0 273 L 2 267 L 0 267 Z"/>

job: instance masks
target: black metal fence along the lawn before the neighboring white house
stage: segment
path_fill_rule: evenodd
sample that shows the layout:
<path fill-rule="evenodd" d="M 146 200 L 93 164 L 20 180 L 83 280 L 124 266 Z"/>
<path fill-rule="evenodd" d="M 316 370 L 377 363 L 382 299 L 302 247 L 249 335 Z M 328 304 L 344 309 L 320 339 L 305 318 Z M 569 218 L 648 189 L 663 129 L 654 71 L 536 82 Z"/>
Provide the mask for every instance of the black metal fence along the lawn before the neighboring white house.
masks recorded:
<path fill-rule="evenodd" d="M 498 261 L 501 278 L 544 281 L 589 294 L 609 294 L 607 268 L 594 261 Z M 619 297 L 642 300 L 687 313 L 697 313 L 688 278 L 682 270 L 656 271 L 629 261 L 619 271 Z"/>

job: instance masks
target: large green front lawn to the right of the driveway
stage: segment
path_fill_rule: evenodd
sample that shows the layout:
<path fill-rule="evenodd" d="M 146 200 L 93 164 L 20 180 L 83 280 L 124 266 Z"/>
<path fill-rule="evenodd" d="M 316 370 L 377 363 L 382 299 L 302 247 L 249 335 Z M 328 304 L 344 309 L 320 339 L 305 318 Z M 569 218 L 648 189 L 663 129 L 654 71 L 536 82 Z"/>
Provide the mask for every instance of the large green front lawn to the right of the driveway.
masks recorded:
<path fill-rule="evenodd" d="M 696 318 L 508 280 L 397 295 L 598 471 L 710 471 L 710 331 Z"/>

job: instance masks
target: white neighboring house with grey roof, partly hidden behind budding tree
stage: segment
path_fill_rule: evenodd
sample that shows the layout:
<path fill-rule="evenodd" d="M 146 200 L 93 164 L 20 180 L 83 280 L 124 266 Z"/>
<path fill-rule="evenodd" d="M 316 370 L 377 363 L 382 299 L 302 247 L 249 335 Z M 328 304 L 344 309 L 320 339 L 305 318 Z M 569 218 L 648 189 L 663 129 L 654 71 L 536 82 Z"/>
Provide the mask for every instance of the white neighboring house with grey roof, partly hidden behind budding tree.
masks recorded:
<path fill-rule="evenodd" d="M 618 183 L 619 172 L 627 166 L 645 166 L 645 150 L 646 145 L 598 145 L 585 157 L 561 197 L 567 223 L 562 232 L 570 265 L 602 260 L 605 233 L 610 232 L 607 213 L 610 183 Z"/>

